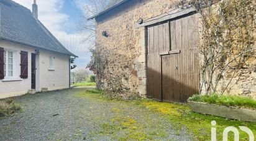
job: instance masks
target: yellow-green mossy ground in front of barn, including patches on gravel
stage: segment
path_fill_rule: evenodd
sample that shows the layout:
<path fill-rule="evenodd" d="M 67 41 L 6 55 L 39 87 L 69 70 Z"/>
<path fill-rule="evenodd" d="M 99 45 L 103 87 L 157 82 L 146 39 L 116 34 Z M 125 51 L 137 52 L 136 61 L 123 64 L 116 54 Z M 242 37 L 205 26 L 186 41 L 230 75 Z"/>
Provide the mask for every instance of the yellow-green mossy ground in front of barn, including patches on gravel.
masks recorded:
<path fill-rule="evenodd" d="M 108 99 L 104 97 L 103 91 L 98 91 L 95 89 L 78 93 L 76 96 L 79 98 L 93 98 L 106 102 L 121 102 L 122 105 L 132 105 L 145 108 L 151 112 L 159 114 L 163 118 L 168 119 L 166 122 L 175 128 L 175 134 L 179 134 L 182 127 L 186 127 L 188 132 L 193 134 L 194 140 L 211 140 L 211 121 L 217 122 L 217 125 L 215 126 L 217 128 L 217 140 L 222 140 L 222 132 L 226 127 L 229 126 L 234 126 L 237 128 L 238 126 L 246 126 L 249 127 L 249 129 L 251 129 L 254 134 L 256 133 L 255 123 L 198 114 L 191 112 L 190 107 L 188 107 L 186 104 L 157 102 L 149 99 L 139 99 L 132 101 Z M 170 134 L 166 130 L 161 130 L 160 132 L 155 130 L 161 128 L 157 127 L 157 124 L 145 124 L 143 122 L 138 122 L 133 117 L 127 117 L 126 114 L 124 114 L 127 111 L 122 111 L 120 107 L 113 107 L 111 112 L 116 112 L 119 116 L 113 117 L 109 122 L 100 123 L 101 131 L 94 134 L 112 135 L 116 137 L 117 140 L 152 140 L 156 139 L 155 137 L 167 137 L 168 134 Z M 144 122 L 152 121 L 146 120 Z M 121 130 L 124 131 L 122 134 Z M 249 140 L 249 137 L 245 132 L 242 132 L 242 130 L 239 131 L 240 140 Z M 229 139 L 234 140 L 232 134 L 229 136 Z"/>

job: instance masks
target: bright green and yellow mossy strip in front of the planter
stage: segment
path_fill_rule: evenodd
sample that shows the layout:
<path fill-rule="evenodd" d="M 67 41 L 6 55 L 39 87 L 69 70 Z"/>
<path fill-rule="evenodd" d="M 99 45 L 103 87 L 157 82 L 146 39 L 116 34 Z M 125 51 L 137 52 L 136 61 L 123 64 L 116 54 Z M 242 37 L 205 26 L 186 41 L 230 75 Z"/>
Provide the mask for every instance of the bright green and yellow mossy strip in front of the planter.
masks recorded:
<path fill-rule="evenodd" d="M 239 126 L 246 126 L 256 133 L 256 123 L 235 121 L 222 117 L 209 116 L 192 112 L 190 107 L 184 104 L 173 104 L 167 102 L 142 101 L 142 106 L 147 107 L 151 111 L 163 114 L 170 119 L 173 127 L 180 130 L 181 127 L 186 127 L 188 131 L 194 135 L 195 140 L 211 140 L 211 121 L 216 121 L 217 125 L 217 140 L 222 140 L 222 132 L 226 127 L 234 126 L 239 129 Z M 249 136 L 240 131 L 240 140 L 249 140 Z M 234 135 L 230 134 L 229 139 L 234 140 Z"/>

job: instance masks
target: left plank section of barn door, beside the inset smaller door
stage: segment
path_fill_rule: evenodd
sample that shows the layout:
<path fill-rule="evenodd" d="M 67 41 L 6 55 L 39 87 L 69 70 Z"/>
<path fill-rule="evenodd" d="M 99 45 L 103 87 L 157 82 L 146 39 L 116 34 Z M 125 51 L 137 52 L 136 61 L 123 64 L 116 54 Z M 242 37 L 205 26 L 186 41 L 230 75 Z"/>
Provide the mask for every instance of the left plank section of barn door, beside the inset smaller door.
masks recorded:
<path fill-rule="evenodd" d="M 161 52 L 170 50 L 169 22 L 148 27 L 147 95 L 162 101 Z"/>

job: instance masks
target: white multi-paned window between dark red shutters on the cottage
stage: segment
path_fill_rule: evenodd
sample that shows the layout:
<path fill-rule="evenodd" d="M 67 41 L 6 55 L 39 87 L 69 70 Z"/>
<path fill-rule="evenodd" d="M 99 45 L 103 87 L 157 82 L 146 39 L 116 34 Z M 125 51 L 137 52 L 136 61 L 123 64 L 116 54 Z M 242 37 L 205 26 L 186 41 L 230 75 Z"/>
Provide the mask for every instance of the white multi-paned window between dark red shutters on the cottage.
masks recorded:
<path fill-rule="evenodd" d="M 14 52 L 4 52 L 4 76 L 7 78 L 14 77 Z"/>

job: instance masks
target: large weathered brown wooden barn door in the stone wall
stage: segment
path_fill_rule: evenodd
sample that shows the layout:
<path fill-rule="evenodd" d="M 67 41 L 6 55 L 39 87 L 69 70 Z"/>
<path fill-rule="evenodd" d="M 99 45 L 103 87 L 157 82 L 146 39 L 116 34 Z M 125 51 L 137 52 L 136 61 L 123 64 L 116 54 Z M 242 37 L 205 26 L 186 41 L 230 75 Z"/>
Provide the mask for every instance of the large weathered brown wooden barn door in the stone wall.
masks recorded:
<path fill-rule="evenodd" d="M 148 27 L 149 97 L 160 101 L 185 102 L 198 93 L 197 21 L 198 14 L 193 14 Z M 159 27 L 165 27 L 165 34 Z"/>

